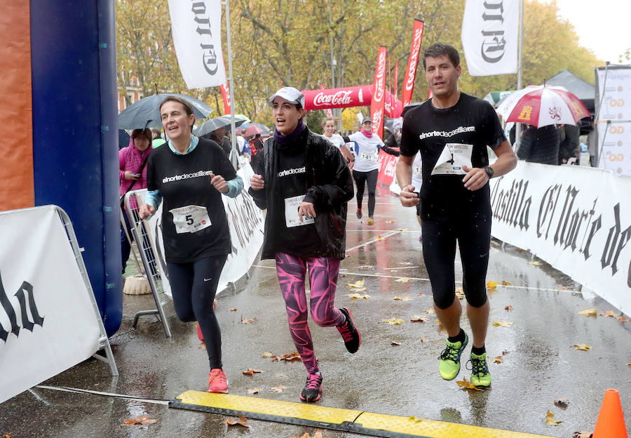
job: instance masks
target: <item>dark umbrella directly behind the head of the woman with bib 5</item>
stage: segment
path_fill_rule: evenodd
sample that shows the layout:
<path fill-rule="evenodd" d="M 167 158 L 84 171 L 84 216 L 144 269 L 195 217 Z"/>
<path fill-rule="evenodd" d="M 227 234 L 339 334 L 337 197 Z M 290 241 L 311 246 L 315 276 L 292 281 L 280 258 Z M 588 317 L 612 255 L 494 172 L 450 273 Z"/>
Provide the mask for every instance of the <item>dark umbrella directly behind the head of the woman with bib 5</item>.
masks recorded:
<path fill-rule="evenodd" d="M 169 95 L 187 100 L 193 106 L 196 119 L 205 119 L 212 112 L 212 108 L 201 100 L 183 94 L 154 94 L 133 103 L 118 114 L 118 128 L 161 128 L 160 104 Z"/>

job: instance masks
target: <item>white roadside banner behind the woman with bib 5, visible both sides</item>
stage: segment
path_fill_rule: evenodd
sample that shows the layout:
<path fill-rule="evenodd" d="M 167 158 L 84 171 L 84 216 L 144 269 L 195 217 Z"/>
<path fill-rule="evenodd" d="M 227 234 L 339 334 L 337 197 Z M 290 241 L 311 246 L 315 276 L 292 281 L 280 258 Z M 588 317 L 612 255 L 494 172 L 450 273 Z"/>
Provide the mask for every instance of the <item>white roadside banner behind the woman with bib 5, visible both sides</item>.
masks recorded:
<path fill-rule="evenodd" d="M 230 229 L 232 253 L 228 255 L 224 270 L 222 270 L 222 274 L 219 277 L 217 291 L 224 290 L 228 283 L 243 277 L 250 270 L 250 266 L 254 263 L 263 245 L 263 211 L 256 206 L 254 199 L 247 193 L 247 189 L 250 188 L 250 178 L 254 175 L 252 166 L 249 163 L 245 163 L 245 166 L 237 171 L 237 175 L 243 179 L 243 190 L 241 193 L 236 198 L 222 196 Z M 149 227 L 151 229 L 151 238 L 154 239 L 152 244 L 154 244 L 154 248 L 157 248 L 156 260 L 161 264 L 160 270 L 161 272 L 167 272 L 163 261 L 164 246 L 161 232 L 161 217 L 162 204 L 156 211 L 156 214 L 149 219 Z M 165 293 L 171 295 L 168 275 L 162 276 L 162 284 Z"/>

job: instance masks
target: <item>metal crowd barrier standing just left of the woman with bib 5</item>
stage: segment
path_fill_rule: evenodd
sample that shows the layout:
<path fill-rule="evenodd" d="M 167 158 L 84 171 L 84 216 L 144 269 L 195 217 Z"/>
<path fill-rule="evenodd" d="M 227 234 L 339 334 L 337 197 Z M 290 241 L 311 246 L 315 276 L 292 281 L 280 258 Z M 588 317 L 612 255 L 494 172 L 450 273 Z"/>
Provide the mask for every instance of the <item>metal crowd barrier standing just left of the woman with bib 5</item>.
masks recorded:
<path fill-rule="evenodd" d="M 156 259 L 158 251 L 156 251 L 156 248 L 154 248 L 154 245 L 152 244 L 152 239 L 150 237 L 151 230 L 149 230 L 149 225 L 144 220 L 140 219 L 138 212 L 139 206 L 144 201 L 144 196 L 146 194 L 147 189 L 133 190 L 125 194 L 125 211 L 131 225 L 132 234 L 138 247 L 138 251 L 140 252 L 144 274 L 147 275 L 149 286 L 151 286 L 151 293 L 154 296 L 156 308 L 150 310 L 140 310 L 140 312 L 137 312 L 134 316 L 133 326 L 136 326 L 140 317 L 155 314 L 158 319 L 162 321 L 165 335 L 167 338 L 170 338 L 171 330 L 163 310 L 163 306 L 170 300 L 170 297 L 164 293 L 162 286 L 161 276 L 167 275 L 167 272 L 165 272 L 163 268 L 165 267 L 165 263 L 163 260 Z"/>

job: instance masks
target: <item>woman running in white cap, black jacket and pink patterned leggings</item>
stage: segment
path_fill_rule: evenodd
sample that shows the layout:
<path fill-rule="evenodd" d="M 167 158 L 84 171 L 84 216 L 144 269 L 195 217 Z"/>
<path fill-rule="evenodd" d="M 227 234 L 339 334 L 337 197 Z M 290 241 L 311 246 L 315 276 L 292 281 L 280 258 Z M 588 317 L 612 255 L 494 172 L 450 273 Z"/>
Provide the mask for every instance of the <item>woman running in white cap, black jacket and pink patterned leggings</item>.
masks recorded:
<path fill-rule="evenodd" d="M 267 208 L 262 258 L 276 260 L 290 333 L 308 372 L 300 398 L 317 401 L 323 378 L 307 325 L 307 267 L 315 323 L 337 327 L 348 352 L 356 352 L 361 343 L 351 312 L 333 305 L 353 180 L 337 148 L 303 123 L 300 91 L 283 87 L 268 101 L 276 130 L 265 142 L 263 159 L 255 163 L 249 192 L 259 208 Z"/>

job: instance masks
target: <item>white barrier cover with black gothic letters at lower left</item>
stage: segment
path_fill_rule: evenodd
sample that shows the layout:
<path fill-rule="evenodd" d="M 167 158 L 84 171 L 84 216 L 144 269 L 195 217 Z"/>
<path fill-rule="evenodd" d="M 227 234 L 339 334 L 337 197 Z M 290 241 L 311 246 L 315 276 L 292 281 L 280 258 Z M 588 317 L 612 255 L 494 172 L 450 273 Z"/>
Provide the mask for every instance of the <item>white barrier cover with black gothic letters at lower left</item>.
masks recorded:
<path fill-rule="evenodd" d="M 98 350 L 98 319 L 53 206 L 0 214 L 0 324 L 0 403 Z"/>

